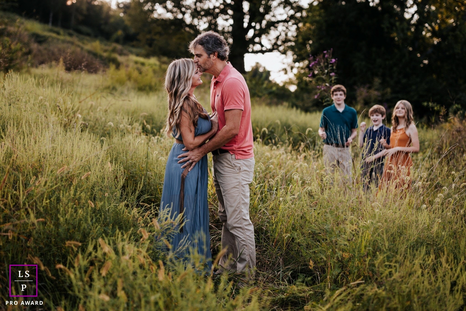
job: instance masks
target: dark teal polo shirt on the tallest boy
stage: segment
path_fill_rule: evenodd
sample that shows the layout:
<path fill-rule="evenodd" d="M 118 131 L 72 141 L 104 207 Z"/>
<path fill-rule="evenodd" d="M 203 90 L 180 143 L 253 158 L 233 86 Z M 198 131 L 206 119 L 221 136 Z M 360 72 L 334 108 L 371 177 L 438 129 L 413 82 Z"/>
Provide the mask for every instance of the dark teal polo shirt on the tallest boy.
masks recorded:
<path fill-rule="evenodd" d="M 346 104 L 340 112 L 334 103 L 322 111 L 320 127 L 327 134 L 325 144 L 344 145 L 351 135 L 351 129 L 357 128 L 357 112 Z"/>

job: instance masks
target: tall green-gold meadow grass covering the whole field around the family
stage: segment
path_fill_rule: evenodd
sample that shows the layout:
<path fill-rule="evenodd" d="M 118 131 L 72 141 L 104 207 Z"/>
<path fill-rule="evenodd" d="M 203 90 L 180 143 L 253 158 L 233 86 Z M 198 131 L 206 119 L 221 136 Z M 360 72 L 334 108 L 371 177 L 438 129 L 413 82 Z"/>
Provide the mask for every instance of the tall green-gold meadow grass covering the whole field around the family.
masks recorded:
<path fill-rule="evenodd" d="M 254 103 L 257 274 L 254 288 L 240 289 L 234 275 L 205 276 L 199 258 L 185 265 L 162 251 L 170 226 L 153 219 L 172 144 L 160 134 L 164 95 L 109 89 L 110 72 L 43 67 L 31 70 L 34 78 L 2 80 L 1 300 L 9 299 L 8 264 L 36 263 L 48 309 L 463 308 L 466 155 L 455 147 L 458 121 L 418 126 L 411 188 L 364 193 L 358 178 L 342 187 L 325 173 L 318 115 Z M 352 151 L 357 177 L 359 150 Z M 221 223 L 211 173 L 208 192 L 215 257 Z"/>

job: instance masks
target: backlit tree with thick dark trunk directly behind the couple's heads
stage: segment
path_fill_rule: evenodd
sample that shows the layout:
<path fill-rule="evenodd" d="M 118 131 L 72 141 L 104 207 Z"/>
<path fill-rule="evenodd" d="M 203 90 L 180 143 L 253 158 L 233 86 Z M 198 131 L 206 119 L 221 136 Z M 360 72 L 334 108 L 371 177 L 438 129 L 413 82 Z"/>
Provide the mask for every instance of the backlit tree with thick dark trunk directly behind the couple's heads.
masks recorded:
<path fill-rule="evenodd" d="M 303 10 L 298 0 L 133 0 L 132 4 L 149 12 L 144 15 L 149 19 L 174 20 L 181 31 L 197 35 L 214 30 L 224 35 L 231 44 L 229 59 L 241 73 L 246 53 L 284 51 L 294 34 L 295 17 Z"/>

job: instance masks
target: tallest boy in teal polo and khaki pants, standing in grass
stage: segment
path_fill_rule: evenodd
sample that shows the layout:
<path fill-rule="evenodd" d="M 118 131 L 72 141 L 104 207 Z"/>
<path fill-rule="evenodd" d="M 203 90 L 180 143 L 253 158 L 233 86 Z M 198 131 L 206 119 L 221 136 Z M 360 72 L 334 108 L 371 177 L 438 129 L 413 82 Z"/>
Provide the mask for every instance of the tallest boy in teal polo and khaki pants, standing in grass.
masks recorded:
<path fill-rule="evenodd" d="M 356 137 L 357 113 L 345 104 L 346 89 L 337 84 L 330 91 L 333 105 L 322 111 L 319 136 L 323 139 L 323 163 L 329 173 L 338 167 L 342 177 L 351 180 L 352 158 L 349 146 Z"/>

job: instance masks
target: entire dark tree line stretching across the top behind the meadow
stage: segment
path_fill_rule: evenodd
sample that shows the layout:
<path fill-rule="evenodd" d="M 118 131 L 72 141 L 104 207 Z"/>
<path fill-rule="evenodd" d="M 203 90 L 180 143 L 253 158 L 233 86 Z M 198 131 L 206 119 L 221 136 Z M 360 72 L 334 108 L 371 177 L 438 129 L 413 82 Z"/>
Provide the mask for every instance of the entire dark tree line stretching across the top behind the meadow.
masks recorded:
<path fill-rule="evenodd" d="M 338 63 L 332 83 L 344 84 L 357 108 L 406 99 L 432 120 L 466 111 L 466 0 L 131 0 L 117 9 L 103 0 L 0 3 L 171 59 L 189 57 L 189 41 L 214 30 L 226 37 L 230 61 L 242 73 L 246 53 L 291 53 L 297 89 L 286 101 L 306 111 L 324 105 L 323 86 L 311 83 L 309 57 L 331 48 Z M 249 79 L 264 77 L 254 70 Z"/>

